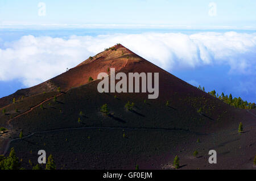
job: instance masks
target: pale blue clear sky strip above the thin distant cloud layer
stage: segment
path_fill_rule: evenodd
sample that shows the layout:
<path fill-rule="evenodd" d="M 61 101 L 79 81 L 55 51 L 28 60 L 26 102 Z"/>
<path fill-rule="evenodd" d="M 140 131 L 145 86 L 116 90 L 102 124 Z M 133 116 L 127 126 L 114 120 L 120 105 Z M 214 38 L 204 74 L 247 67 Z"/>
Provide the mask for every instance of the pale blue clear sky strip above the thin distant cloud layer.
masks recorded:
<path fill-rule="evenodd" d="M 46 7 L 45 15 L 38 13 L 44 7 L 38 7 L 40 2 Z M 216 13 L 209 14 L 209 11 L 215 7 Z M 256 1 L 250 0 L 1 0 L 0 23 L 13 26 L 16 24 L 146 24 L 255 28 L 255 7 Z"/>

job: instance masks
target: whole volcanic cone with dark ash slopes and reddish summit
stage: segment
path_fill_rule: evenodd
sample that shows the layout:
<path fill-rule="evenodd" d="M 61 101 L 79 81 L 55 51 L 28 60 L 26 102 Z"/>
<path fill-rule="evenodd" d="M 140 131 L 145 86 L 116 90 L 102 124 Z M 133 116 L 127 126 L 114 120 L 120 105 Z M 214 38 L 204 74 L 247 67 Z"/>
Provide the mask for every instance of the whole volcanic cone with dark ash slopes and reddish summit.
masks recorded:
<path fill-rule="evenodd" d="M 0 127 L 10 128 L 9 134 L 0 137 L 2 151 L 11 140 L 9 136 L 18 137 L 22 130 L 28 137 L 13 140 L 10 146 L 28 169 L 28 159 L 36 163 L 40 149 L 53 154 L 58 169 L 133 169 L 136 164 L 142 169 L 168 169 L 176 154 L 182 169 L 253 169 L 254 110 L 230 107 L 122 45 L 113 48 L 117 50 L 101 52 L 41 84 L 47 87 L 52 83 L 51 88 L 27 89 L 27 97 L 19 103 L 6 106 L 8 97 L 1 99 L 7 114 L 0 116 Z M 100 94 L 97 75 L 108 68 L 159 73 L 159 98 L 148 100 L 148 93 Z M 95 81 L 88 82 L 90 76 Z M 170 106 L 166 106 L 167 100 Z M 135 103 L 133 111 L 126 110 L 128 101 Z M 105 103 L 110 116 L 100 112 Z M 199 108 L 203 113 L 197 112 Z M 242 134 L 237 133 L 240 122 L 245 127 Z M 200 143 L 196 143 L 198 138 Z M 217 165 L 208 163 L 210 149 L 220 153 Z M 191 158 L 195 150 L 200 158 Z"/>

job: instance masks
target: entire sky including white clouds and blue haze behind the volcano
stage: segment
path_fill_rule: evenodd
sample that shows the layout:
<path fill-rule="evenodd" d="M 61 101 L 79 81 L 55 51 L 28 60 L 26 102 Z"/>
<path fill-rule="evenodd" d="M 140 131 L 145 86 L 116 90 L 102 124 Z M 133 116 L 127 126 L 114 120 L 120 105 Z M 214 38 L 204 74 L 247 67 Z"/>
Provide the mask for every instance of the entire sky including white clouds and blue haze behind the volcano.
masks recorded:
<path fill-rule="evenodd" d="M 0 97 L 121 43 L 194 86 L 256 102 L 256 1 L 0 1 Z"/>

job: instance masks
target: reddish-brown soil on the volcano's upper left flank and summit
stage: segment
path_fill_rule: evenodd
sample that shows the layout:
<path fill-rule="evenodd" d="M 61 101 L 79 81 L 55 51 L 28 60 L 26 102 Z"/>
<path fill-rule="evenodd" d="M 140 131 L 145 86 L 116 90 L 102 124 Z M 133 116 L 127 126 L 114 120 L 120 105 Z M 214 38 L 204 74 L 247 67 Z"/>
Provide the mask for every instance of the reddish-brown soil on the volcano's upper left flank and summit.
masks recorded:
<path fill-rule="evenodd" d="M 28 97 L 43 92 L 57 91 L 58 87 L 61 87 L 61 91 L 67 91 L 72 87 L 85 85 L 89 82 L 89 77 L 97 79 L 97 75 L 101 72 L 106 72 L 109 67 L 117 70 L 121 69 L 127 63 L 127 58 L 122 56 L 131 54 L 132 52 L 122 47 L 122 45 L 115 47 L 118 48 L 118 51 L 110 52 L 111 50 L 109 50 L 98 53 L 96 56 L 92 57 L 92 59 L 88 58 L 75 68 L 69 69 L 55 78 L 28 89 L 18 90 L 14 94 L 1 98 L 0 108 L 11 104 L 13 98 L 21 99 L 22 96 Z"/>

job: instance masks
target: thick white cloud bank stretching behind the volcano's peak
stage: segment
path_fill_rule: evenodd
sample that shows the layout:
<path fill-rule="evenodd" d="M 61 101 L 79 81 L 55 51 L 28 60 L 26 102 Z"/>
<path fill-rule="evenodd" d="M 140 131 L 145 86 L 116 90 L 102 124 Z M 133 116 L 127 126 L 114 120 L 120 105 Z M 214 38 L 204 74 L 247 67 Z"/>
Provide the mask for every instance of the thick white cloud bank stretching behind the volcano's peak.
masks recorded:
<path fill-rule="evenodd" d="M 0 49 L 0 81 L 20 79 L 25 86 L 34 86 L 116 43 L 166 70 L 223 64 L 230 66 L 230 73 L 256 72 L 256 33 L 23 36 Z"/>

